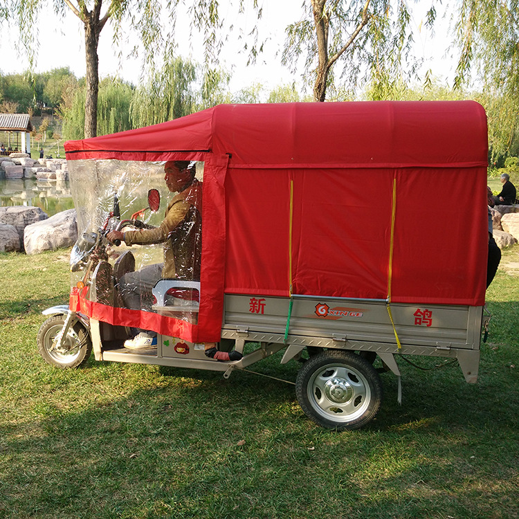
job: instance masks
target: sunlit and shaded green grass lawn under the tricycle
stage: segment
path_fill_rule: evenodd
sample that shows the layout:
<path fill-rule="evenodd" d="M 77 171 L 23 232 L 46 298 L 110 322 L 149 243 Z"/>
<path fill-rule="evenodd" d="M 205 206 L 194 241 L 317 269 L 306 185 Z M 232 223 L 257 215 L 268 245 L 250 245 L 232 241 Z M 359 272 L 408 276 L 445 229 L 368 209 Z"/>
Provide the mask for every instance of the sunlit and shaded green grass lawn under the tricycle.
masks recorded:
<path fill-rule="evenodd" d="M 0 518 L 517 518 L 518 251 L 487 293 L 479 383 L 400 362 L 402 405 L 383 374 L 379 415 L 343 433 L 255 374 L 47 365 L 35 337 L 68 251 L 0 254 Z M 279 361 L 252 369 L 295 379 Z"/>

